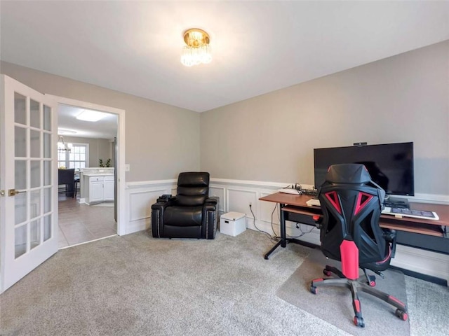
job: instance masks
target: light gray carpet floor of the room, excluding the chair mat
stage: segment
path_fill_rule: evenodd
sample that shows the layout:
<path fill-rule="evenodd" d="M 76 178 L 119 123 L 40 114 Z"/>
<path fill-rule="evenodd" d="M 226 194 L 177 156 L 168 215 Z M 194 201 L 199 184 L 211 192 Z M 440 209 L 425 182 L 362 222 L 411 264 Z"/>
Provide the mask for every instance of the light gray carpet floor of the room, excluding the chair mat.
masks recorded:
<path fill-rule="evenodd" d="M 276 296 L 312 250 L 289 244 L 264 260 L 271 246 L 246 230 L 66 248 L 0 295 L 0 335 L 351 335 Z M 446 335 L 448 288 L 406 276 L 406 290 L 410 335 Z"/>

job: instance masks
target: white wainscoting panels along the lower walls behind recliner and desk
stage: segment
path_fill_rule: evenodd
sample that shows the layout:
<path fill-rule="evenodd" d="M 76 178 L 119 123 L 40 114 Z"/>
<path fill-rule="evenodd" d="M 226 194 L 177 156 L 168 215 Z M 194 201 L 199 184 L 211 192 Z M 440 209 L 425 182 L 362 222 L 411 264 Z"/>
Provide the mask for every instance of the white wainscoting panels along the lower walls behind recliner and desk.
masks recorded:
<path fill-rule="evenodd" d="M 246 214 L 247 228 L 263 230 L 279 236 L 279 206 L 260 201 L 260 197 L 276 193 L 289 183 L 210 179 L 209 195 L 220 197 L 220 214 L 236 211 Z M 151 205 L 162 194 L 176 194 L 176 180 L 144 181 L 127 183 L 128 220 L 126 233 L 146 230 L 151 225 Z M 309 188 L 309 186 L 304 186 Z M 413 202 L 436 202 L 449 204 L 447 195 L 416 195 Z M 251 204 L 251 209 L 249 207 Z M 275 209 L 276 207 L 276 209 Z M 255 217 L 255 220 L 254 220 Z M 319 230 L 310 225 L 286 222 L 286 233 L 311 244 L 320 244 Z M 396 267 L 449 280 L 449 255 L 424 251 L 419 248 L 397 246 L 396 258 L 391 262 Z"/>

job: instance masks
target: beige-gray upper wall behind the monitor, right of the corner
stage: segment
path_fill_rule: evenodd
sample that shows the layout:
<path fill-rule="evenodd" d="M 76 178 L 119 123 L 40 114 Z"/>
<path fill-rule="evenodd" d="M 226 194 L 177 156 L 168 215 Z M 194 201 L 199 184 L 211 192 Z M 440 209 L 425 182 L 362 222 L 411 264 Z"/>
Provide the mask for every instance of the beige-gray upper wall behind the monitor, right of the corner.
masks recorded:
<path fill-rule="evenodd" d="M 314 183 L 313 148 L 413 141 L 415 193 L 449 195 L 449 41 L 201 113 L 201 169 Z"/>

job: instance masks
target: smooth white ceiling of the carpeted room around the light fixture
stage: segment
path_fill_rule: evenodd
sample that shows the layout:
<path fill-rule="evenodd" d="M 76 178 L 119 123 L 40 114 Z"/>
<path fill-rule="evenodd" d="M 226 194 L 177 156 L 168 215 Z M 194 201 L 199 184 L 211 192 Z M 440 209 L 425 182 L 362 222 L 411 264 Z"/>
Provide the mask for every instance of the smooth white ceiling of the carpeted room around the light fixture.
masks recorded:
<path fill-rule="evenodd" d="M 449 39 L 449 1 L 1 1 L 0 57 L 208 111 Z M 180 64 L 183 31 L 213 62 Z"/>

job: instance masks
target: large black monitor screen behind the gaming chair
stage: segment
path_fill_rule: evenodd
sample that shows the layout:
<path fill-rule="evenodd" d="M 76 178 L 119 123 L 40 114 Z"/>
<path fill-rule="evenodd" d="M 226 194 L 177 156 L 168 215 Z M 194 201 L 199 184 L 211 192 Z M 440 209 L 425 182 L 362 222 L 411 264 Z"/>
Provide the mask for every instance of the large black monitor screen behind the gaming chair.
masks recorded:
<path fill-rule="evenodd" d="M 314 149 L 315 188 L 326 178 L 328 167 L 361 163 L 371 179 L 389 195 L 415 195 L 413 142 Z"/>

